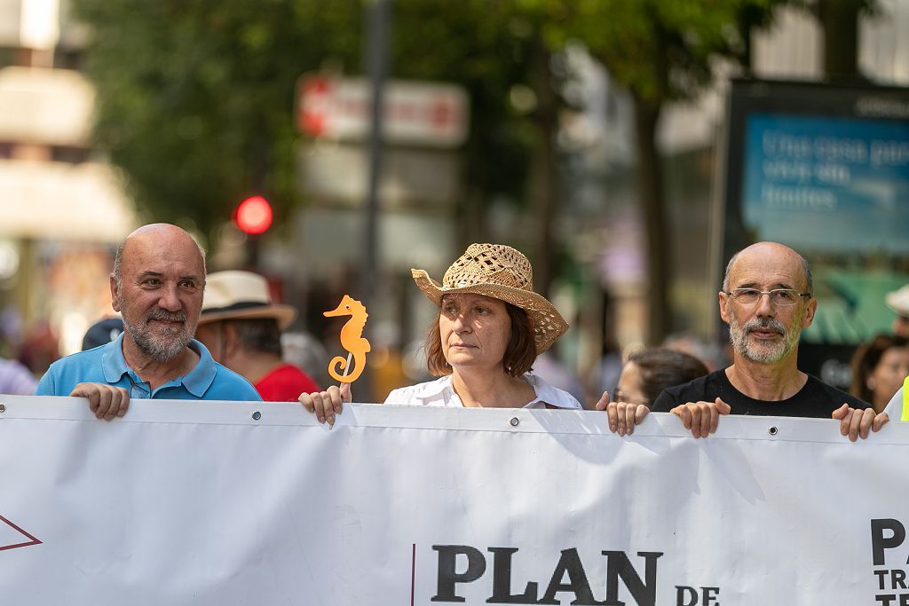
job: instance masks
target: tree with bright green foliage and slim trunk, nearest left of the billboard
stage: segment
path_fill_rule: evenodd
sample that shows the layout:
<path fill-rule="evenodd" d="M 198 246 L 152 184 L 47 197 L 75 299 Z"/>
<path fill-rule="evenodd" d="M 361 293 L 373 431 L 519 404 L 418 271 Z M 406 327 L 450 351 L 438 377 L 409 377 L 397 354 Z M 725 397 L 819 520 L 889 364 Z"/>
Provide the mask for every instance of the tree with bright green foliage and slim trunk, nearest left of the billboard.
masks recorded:
<path fill-rule="evenodd" d="M 656 148 L 667 103 L 688 101 L 710 84 L 714 62 L 745 63 L 749 38 L 767 25 L 782 0 L 518 0 L 558 12 L 545 35 L 559 47 L 575 38 L 634 100 L 637 185 L 647 233 L 651 302 L 649 340 L 671 330 L 667 301 L 669 230 L 665 226 L 661 157 Z"/>

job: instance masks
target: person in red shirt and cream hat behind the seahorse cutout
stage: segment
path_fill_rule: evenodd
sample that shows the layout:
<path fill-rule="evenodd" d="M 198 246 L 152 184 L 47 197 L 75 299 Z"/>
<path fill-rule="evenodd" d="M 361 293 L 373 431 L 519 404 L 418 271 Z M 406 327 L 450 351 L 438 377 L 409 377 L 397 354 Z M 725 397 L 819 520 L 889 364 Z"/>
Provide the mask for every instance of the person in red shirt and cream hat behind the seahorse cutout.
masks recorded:
<path fill-rule="evenodd" d="M 272 303 L 268 282 L 252 272 L 210 273 L 195 338 L 215 361 L 240 373 L 266 402 L 295 402 L 319 386 L 304 371 L 285 362 L 281 331 L 296 310 Z"/>

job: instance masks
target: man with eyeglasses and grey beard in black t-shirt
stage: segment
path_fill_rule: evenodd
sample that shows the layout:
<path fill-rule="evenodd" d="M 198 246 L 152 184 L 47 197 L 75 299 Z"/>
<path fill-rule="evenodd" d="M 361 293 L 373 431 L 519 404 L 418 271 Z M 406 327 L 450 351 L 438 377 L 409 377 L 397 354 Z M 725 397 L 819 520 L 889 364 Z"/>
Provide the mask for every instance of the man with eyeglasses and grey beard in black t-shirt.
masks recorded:
<path fill-rule="evenodd" d="M 796 367 L 799 335 L 817 310 L 812 289 L 808 263 L 788 246 L 762 242 L 736 253 L 719 293 L 733 364 L 666 389 L 653 410 L 674 413 L 695 438 L 715 432 L 724 414 L 833 418 L 852 441 L 878 431 L 886 413 Z"/>

